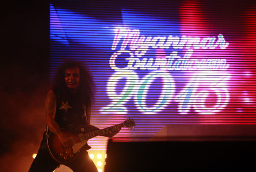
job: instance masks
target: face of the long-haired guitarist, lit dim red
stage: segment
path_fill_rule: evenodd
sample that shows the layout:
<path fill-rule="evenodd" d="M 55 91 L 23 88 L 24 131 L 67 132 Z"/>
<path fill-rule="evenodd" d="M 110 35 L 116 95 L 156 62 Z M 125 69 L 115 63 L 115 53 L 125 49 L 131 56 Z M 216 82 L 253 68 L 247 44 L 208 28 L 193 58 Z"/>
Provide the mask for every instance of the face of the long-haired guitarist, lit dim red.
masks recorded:
<path fill-rule="evenodd" d="M 65 71 L 65 84 L 68 89 L 75 89 L 75 91 L 79 87 L 80 83 L 80 72 L 79 68 L 70 68 Z"/>

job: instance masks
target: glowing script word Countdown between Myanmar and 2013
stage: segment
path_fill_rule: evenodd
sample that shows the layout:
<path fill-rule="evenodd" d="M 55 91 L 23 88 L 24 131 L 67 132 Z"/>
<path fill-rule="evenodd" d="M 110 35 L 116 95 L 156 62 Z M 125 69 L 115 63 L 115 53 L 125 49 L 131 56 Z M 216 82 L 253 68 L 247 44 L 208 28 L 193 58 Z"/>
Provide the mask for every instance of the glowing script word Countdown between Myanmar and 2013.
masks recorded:
<path fill-rule="evenodd" d="M 134 57 L 134 53 L 128 50 L 119 50 L 115 52 L 109 61 L 111 69 L 115 71 L 120 70 L 227 70 L 229 64 L 226 59 L 189 59 L 193 50 L 188 50 L 183 58 L 177 56 L 177 52 L 172 52 L 165 58 L 143 58 L 140 60 L 138 57 Z M 121 54 L 128 54 L 127 65 L 124 68 L 118 68 L 115 64 L 116 58 Z"/>

